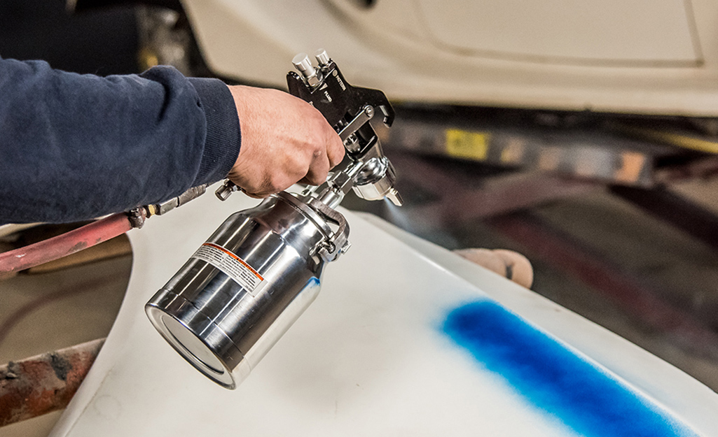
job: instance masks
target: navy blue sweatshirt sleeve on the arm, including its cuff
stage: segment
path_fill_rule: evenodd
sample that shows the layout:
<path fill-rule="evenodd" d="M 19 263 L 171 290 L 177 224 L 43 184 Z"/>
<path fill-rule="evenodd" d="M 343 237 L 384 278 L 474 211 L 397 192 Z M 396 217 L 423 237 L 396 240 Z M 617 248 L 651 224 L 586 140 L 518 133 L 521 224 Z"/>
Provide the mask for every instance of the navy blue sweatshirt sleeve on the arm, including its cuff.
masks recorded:
<path fill-rule="evenodd" d="M 0 59 L 0 224 L 78 221 L 178 196 L 224 178 L 240 142 L 220 80 Z"/>

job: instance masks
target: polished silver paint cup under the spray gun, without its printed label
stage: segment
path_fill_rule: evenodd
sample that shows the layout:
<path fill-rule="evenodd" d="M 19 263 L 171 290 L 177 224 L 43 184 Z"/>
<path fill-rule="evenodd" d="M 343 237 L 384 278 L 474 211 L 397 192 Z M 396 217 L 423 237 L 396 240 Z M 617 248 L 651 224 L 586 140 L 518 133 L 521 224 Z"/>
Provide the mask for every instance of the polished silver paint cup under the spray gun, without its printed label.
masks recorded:
<path fill-rule="evenodd" d="M 256 289 L 193 257 L 146 305 L 172 347 L 227 388 L 246 378 L 319 292 L 319 251 L 333 233 L 320 214 L 283 194 L 234 213 L 208 239 L 261 274 Z"/>

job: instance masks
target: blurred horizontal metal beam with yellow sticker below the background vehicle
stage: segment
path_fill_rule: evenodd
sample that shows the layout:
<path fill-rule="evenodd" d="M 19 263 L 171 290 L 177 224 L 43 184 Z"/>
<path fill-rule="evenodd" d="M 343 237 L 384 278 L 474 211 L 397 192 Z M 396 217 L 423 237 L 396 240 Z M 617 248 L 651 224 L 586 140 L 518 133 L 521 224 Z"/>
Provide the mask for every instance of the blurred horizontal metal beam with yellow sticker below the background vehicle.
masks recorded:
<path fill-rule="evenodd" d="M 561 121 L 571 117 L 587 120 Z M 545 118 L 556 120 L 541 121 Z M 402 109 L 383 141 L 388 151 L 644 187 L 655 183 L 657 158 L 683 153 L 655 141 L 627 138 L 610 128 L 610 119 L 488 108 L 478 112 Z"/>

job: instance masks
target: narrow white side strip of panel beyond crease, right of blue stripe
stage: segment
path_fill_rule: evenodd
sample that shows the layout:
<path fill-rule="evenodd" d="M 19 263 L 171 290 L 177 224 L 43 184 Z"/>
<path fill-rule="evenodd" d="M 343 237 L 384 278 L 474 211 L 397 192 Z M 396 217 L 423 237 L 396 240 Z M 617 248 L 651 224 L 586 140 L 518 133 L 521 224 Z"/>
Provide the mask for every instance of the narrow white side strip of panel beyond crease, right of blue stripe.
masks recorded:
<path fill-rule="evenodd" d="M 666 405 L 668 410 L 683 418 L 686 423 L 706 432 L 707 436 L 718 436 L 718 418 L 714 415 L 718 406 L 718 395 L 699 381 L 623 337 L 529 289 L 519 287 L 435 244 L 401 231 L 381 218 L 368 213 L 360 215 L 439 266 L 472 284 L 477 284 L 503 307 L 520 314 L 532 325 L 541 327 L 541 330 L 579 350 L 582 355 L 599 362 L 603 368 L 629 381 L 630 385 L 648 395 L 648 398 Z M 692 393 L 690 400 L 687 401 L 683 395 L 676 396 L 676 393 L 684 392 Z"/>

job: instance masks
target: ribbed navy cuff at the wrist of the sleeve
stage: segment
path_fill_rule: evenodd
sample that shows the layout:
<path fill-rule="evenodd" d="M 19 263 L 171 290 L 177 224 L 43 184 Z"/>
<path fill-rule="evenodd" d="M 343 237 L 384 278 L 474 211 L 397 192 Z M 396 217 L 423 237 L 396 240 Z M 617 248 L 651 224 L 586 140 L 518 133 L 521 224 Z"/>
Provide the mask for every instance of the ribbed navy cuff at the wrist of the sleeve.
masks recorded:
<path fill-rule="evenodd" d="M 192 186 L 214 183 L 227 176 L 241 146 L 239 117 L 227 85 L 218 79 L 190 77 L 205 112 L 207 134 L 200 170 Z"/>

